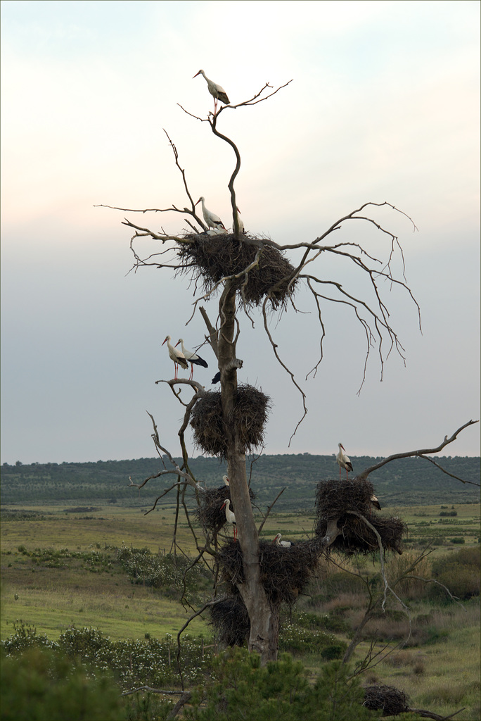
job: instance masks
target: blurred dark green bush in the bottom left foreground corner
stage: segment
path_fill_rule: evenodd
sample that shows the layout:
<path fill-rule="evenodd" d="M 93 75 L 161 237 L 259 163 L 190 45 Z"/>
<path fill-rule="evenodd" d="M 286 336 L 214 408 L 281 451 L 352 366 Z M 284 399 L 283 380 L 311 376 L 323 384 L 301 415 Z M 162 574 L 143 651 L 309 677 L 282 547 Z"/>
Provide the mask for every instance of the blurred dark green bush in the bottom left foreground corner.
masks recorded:
<path fill-rule="evenodd" d="M 58 651 L 39 647 L 2 657 L 2 721 L 125 719 L 120 690 L 109 676 L 90 676 Z"/>

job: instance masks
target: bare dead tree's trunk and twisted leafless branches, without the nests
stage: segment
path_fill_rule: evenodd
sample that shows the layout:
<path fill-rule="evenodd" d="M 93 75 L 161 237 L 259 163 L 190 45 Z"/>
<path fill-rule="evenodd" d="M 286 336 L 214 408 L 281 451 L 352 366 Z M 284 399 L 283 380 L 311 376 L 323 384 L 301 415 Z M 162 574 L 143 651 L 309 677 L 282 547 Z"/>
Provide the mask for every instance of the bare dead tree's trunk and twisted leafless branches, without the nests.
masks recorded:
<path fill-rule="evenodd" d="M 290 81 L 289 81 L 290 82 Z M 289 83 L 287 83 L 289 84 Z M 192 317 L 188 322 L 192 321 L 197 310 L 202 315 L 204 324 L 207 327 L 206 342 L 212 348 L 217 358 L 217 366 L 220 371 L 220 417 L 222 423 L 222 434 L 224 443 L 222 446 L 222 455 L 228 463 L 228 476 L 230 479 L 230 497 L 235 508 L 235 518 L 238 527 L 238 541 L 242 553 L 243 574 L 242 578 L 235 580 L 238 593 L 243 600 L 248 611 L 250 619 L 251 631 L 248 640 L 248 647 L 261 655 L 261 660 L 266 663 L 267 660 L 277 658 L 277 643 L 279 634 L 279 615 L 278 608 L 274 608 L 266 594 L 266 590 L 261 581 L 261 563 L 259 558 L 259 531 L 253 517 L 251 505 L 251 497 L 249 494 L 248 481 L 246 476 L 246 450 L 248 442 L 246 441 L 241 424 L 235 420 L 236 404 L 238 402 L 238 376 L 237 371 L 242 366 L 242 359 L 237 358 L 236 348 L 238 337 L 240 335 L 240 321 L 238 311 L 242 309 L 251 323 L 253 317 L 251 311 L 253 308 L 260 308 L 263 319 L 264 330 L 275 358 L 287 372 L 292 383 L 297 387 L 302 398 L 302 417 L 297 423 L 297 427 L 307 414 L 306 395 L 302 387 L 297 382 L 295 372 L 292 371 L 282 360 L 278 345 L 269 328 L 269 319 L 275 311 L 282 311 L 291 306 L 297 311 L 295 306 L 295 292 L 301 286 L 306 288 L 313 299 L 315 309 L 317 311 L 318 322 L 320 327 L 320 356 L 313 366 L 310 373 L 316 373 L 320 361 L 323 359 L 323 341 L 325 338 L 325 324 L 323 320 L 323 307 L 325 303 L 336 303 L 346 306 L 354 314 L 356 319 L 364 331 L 366 340 L 366 355 L 364 358 L 364 372 L 362 376 L 361 386 L 364 384 L 367 361 L 374 344 L 378 347 L 380 373 L 384 371 L 385 361 L 389 357 L 392 350 L 395 350 L 400 358 L 405 360 L 405 349 L 402 342 L 390 323 L 390 314 L 387 305 L 383 299 L 380 280 L 387 280 L 390 287 L 397 286 L 407 294 L 410 301 L 415 304 L 418 311 L 418 322 L 421 330 L 421 312 L 415 297 L 405 279 L 405 263 L 403 249 L 397 236 L 379 224 L 371 215 L 376 208 L 391 208 L 392 211 L 400 213 L 410 221 L 413 231 L 417 230 L 415 224 L 406 216 L 403 211 L 395 208 L 391 203 L 382 202 L 363 203 L 354 211 L 347 213 L 345 216 L 338 218 L 328 227 L 318 238 L 308 242 L 297 242 L 292 244 L 279 245 L 268 238 L 262 238 L 253 234 L 240 234 L 237 216 L 237 200 L 235 195 L 235 179 L 240 172 L 240 152 L 234 141 L 224 133 L 220 133 L 217 123 L 222 112 L 227 112 L 233 108 L 248 107 L 263 102 L 277 94 L 280 89 L 286 87 L 284 84 L 277 89 L 272 89 L 267 83 L 264 87 L 250 99 L 240 102 L 235 106 L 226 106 L 217 110 L 215 114 L 209 113 L 207 118 L 200 118 L 188 112 L 184 108 L 184 112 L 202 123 L 208 123 L 210 130 L 220 140 L 233 149 L 235 155 L 235 167 L 228 181 L 228 190 L 230 193 L 230 203 L 233 211 L 233 233 L 224 236 L 212 238 L 208 235 L 201 218 L 197 216 L 195 211 L 196 204 L 194 196 L 189 190 L 186 180 L 186 172 L 179 162 L 179 153 L 171 138 L 166 133 L 168 143 L 174 154 L 174 162 L 181 172 L 184 183 L 184 190 L 189 200 L 189 204 L 183 208 L 179 205 L 171 205 L 168 208 L 118 208 L 113 205 L 102 205 L 102 207 L 114 208 L 122 210 L 126 213 L 166 213 L 175 212 L 182 213 L 189 229 L 184 229 L 179 234 L 168 234 L 163 229 L 161 231 L 153 231 L 148 227 L 140 226 L 125 218 L 122 221 L 127 227 L 134 232 L 130 240 L 130 248 L 134 256 L 134 264 L 132 270 L 138 270 L 140 267 L 153 266 L 158 268 L 174 269 L 177 274 L 188 275 L 191 283 L 194 285 L 194 301 Z M 272 90 L 272 92 L 270 92 Z M 369 253 L 367 249 L 359 243 L 354 242 L 333 242 L 331 236 L 340 231 L 344 224 L 350 224 L 353 221 L 362 221 L 367 226 L 373 226 L 377 232 L 380 232 L 387 239 L 387 253 L 383 260 Z M 196 225 L 198 227 L 196 227 Z M 139 239 L 150 238 L 154 242 L 161 242 L 158 251 L 152 252 L 143 257 L 136 248 L 136 242 Z M 329 242 L 328 242 L 329 241 Z M 300 260 L 297 265 L 292 265 L 285 257 L 288 250 L 300 252 Z M 207 251 L 207 255 L 206 255 Z M 315 263 L 325 254 L 331 254 L 345 261 L 349 265 L 354 266 L 356 271 L 362 278 L 366 278 L 370 288 L 369 298 L 357 296 L 353 292 L 349 292 L 336 279 L 324 278 L 320 273 L 313 270 Z M 400 258 L 403 267 L 402 278 L 398 278 L 393 270 L 395 259 Z M 212 260 L 213 259 L 213 260 Z M 275 262 L 274 262 L 275 260 Z M 269 274 L 273 267 L 276 267 L 277 274 Z M 316 274 L 317 273 L 317 274 Z M 218 296 L 218 306 L 215 311 L 215 322 L 211 322 L 206 309 L 202 304 L 212 301 Z M 184 422 L 179 430 L 179 442 L 181 444 L 182 466 L 174 461 L 171 454 L 161 444 L 156 422 L 153 416 L 150 418 L 153 423 L 153 441 L 159 456 L 164 454 L 171 467 L 165 468 L 158 474 L 153 475 L 149 479 L 161 477 L 164 474 L 176 474 L 178 481 L 171 486 L 169 490 L 177 489 L 177 509 L 179 511 L 180 503 L 184 505 L 184 512 L 188 516 L 186 505 L 184 503 L 184 495 L 187 485 L 190 485 L 194 492 L 202 495 L 202 486 L 194 479 L 189 471 L 189 461 L 184 441 L 184 432 L 192 419 L 192 412 L 198 404 L 206 397 L 206 392 L 194 381 L 171 380 L 156 381 L 166 382 L 176 398 L 185 407 Z M 180 398 L 180 385 L 187 383 L 192 386 L 192 398 L 189 402 L 184 402 Z M 467 425 L 473 423 L 470 421 Z M 293 433 L 293 435 L 294 435 Z M 446 443 L 454 440 L 454 437 L 446 440 Z M 444 443 L 444 445 L 446 445 Z M 441 444 L 441 447 L 444 447 Z M 407 457 L 408 455 L 426 456 L 431 452 L 429 449 L 425 451 L 415 451 L 412 454 L 401 454 L 394 457 Z M 390 459 L 386 459 L 388 462 Z M 364 472 L 363 477 L 372 472 L 378 466 L 373 466 Z M 143 484 L 136 485 L 142 487 L 149 480 L 146 479 Z M 135 484 L 132 484 L 135 485 Z M 157 501 L 168 492 L 165 491 L 158 497 Z M 180 500 L 182 498 L 182 501 Z M 275 501 L 274 501 L 275 503 Z M 154 506 L 155 507 L 155 506 Z M 268 510 L 269 513 L 269 510 Z M 363 517 L 364 518 L 364 517 Z M 366 518 L 365 523 L 369 524 Z M 199 559 L 203 557 L 205 551 L 211 553 L 215 557 L 215 551 L 210 548 L 210 539 L 208 534 L 205 535 L 205 543 L 203 547 L 199 546 L 197 536 L 191 526 L 196 546 L 199 550 Z M 375 531 L 375 529 L 374 529 Z M 377 531 L 376 531 L 377 532 Z M 320 544 L 319 552 L 322 553 L 330 547 L 338 535 L 336 519 L 331 519 L 328 523 L 328 532 L 325 534 L 323 543 Z M 379 541 L 380 542 L 380 541 Z M 175 547 L 175 539 L 174 539 Z M 380 547 L 382 552 L 382 546 Z M 390 588 L 391 592 L 392 588 Z M 385 594 L 387 593 L 387 581 L 385 581 Z M 372 606 L 374 607 L 374 606 Z"/>

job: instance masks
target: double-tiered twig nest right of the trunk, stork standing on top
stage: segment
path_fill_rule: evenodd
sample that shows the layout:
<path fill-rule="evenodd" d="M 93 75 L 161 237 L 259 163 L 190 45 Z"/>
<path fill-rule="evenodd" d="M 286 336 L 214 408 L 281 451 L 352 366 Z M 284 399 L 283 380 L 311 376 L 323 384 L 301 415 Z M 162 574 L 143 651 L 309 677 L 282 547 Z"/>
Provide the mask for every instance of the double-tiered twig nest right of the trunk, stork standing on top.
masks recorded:
<path fill-rule="evenodd" d="M 341 533 L 329 546 L 330 549 L 338 549 L 347 554 L 367 554 L 379 550 L 377 536 L 372 529 L 358 516 L 346 513 L 347 510 L 354 510 L 376 528 L 385 550 L 402 554 L 403 536 L 408 527 L 400 518 L 373 513 L 373 494 L 374 487 L 368 480 L 331 480 L 318 483 L 315 533 L 322 539 L 328 529 L 328 522 L 338 518 L 337 527 L 341 528 Z"/>

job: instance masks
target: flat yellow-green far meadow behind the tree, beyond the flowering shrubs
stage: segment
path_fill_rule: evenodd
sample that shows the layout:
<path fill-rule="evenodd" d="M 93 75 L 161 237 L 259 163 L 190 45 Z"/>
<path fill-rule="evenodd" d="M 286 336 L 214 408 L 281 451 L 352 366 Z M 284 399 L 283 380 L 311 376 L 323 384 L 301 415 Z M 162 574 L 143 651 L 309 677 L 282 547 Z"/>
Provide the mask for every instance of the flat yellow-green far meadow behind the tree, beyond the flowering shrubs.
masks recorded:
<path fill-rule="evenodd" d="M 29 510 L 35 515 L 27 520 Z M 140 638 L 147 630 L 156 635 L 177 632 L 191 612 L 153 588 L 132 585 L 118 565 L 101 573 L 98 569 L 86 571 L 76 560 L 60 568 L 45 567 L 35 565 L 18 551 L 23 546 L 28 551 L 51 548 L 106 553 L 123 543 L 147 547 L 153 553 L 170 552 L 174 509 L 162 508 L 147 515 L 145 510 L 112 505 L 86 512 L 66 512 L 49 506 L 9 507 L 12 520 L 1 523 L 1 638 L 12 633 L 16 619 L 35 624 L 37 631 L 49 637 L 71 624 L 94 624 L 114 639 Z M 440 506 L 408 506 L 387 509 L 386 513 L 395 513 L 408 523 L 407 548 L 416 549 L 435 539 L 435 556 L 459 549 L 449 541 L 454 537 L 463 538 L 465 545 L 478 542 L 480 505 L 459 505 L 455 510 L 457 516 L 446 519 L 439 516 Z M 262 535 L 272 538 L 280 532 L 286 538 L 297 539 L 310 533 L 313 522 L 313 516 L 273 514 Z M 178 525 L 177 541 L 186 553 L 194 553 L 194 541 L 185 521 Z M 113 560 L 114 553 L 110 553 Z M 200 629 L 205 630 L 204 622 L 196 619 L 192 631 Z"/>

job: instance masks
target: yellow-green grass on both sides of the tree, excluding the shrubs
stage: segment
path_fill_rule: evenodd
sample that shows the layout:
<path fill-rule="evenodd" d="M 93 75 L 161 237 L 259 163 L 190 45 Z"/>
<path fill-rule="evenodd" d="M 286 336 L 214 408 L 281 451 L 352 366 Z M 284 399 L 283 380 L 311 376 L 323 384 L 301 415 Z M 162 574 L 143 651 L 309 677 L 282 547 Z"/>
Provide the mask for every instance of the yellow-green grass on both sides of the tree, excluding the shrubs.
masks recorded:
<path fill-rule="evenodd" d="M 29 514 L 29 510 L 34 513 Z M 171 552 L 174 509 L 161 508 L 146 516 L 145 510 L 112 505 L 61 510 L 58 506 L 9 506 L 1 523 L 1 638 L 14 632 L 14 623 L 19 619 L 51 640 L 72 626 L 96 627 L 112 640 L 143 640 L 146 634 L 153 638 L 175 635 L 192 610 L 184 609 L 162 590 L 133 585 L 117 560 L 115 549 L 122 544 L 147 547 L 153 554 Z M 428 541 L 433 543 L 429 562 L 449 557 L 462 548 L 480 547 L 479 504 L 383 508 L 382 513 L 400 516 L 408 523 L 405 554 L 390 557 L 388 570 L 392 567 L 392 572 L 396 563 L 418 554 Z M 295 540 L 310 534 L 313 523 L 314 517 L 308 514 L 272 514 L 263 536 L 273 538 L 280 532 Z M 184 520 L 178 525 L 176 539 L 186 553 L 194 553 L 192 534 Z M 45 555 L 41 549 L 52 549 L 52 553 Z M 361 570 L 371 577 L 377 565 L 370 558 L 361 559 Z M 328 573 L 332 583 L 340 582 L 338 569 Z M 325 581 L 320 580 L 321 590 L 323 584 Z M 197 607 L 210 597 L 209 586 L 202 588 L 199 586 Z M 339 588 L 317 605 L 313 605 L 312 598 L 304 598 L 298 606 L 303 611 L 343 617 L 347 626 L 356 627 L 364 614 L 365 595 L 352 588 Z M 413 619 L 412 639 L 369 671 L 366 680 L 402 689 L 415 707 L 447 715 L 466 706 L 457 715 L 459 721 L 479 719 L 479 598 L 434 608 L 420 595 L 413 596 L 408 605 Z M 426 628 L 421 625 L 422 618 L 428 619 L 423 622 Z M 396 633 L 405 638 L 408 622 L 374 619 L 368 628 L 380 639 L 383 634 Z M 194 619 L 189 632 L 202 632 L 208 637 L 207 616 Z M 339 641 L 349 642 L 346 629 L 334 634 Z M 366 650 L 367 642 L 361 643 L 356 659 Z M 302 660 L 313 673 L 318 671 L 318 657 L 303 656 Z"/>

